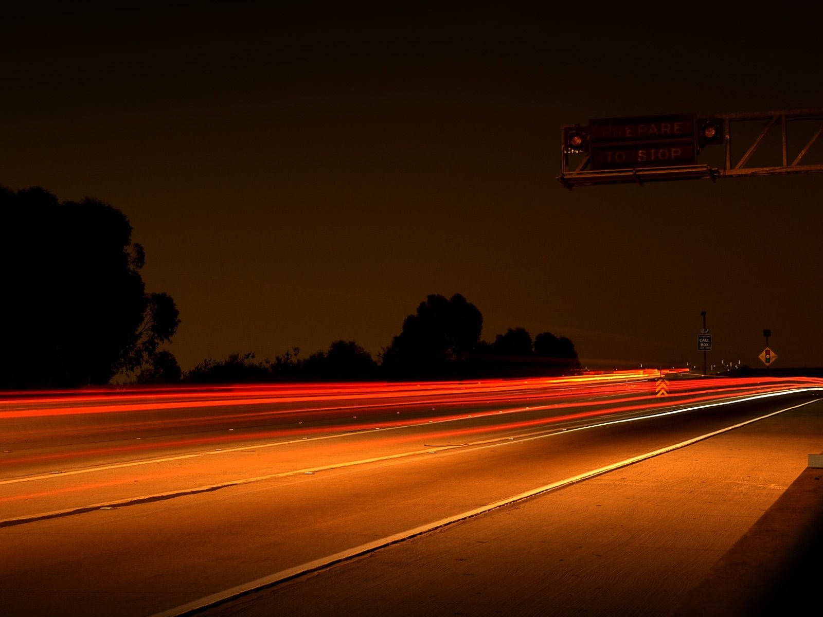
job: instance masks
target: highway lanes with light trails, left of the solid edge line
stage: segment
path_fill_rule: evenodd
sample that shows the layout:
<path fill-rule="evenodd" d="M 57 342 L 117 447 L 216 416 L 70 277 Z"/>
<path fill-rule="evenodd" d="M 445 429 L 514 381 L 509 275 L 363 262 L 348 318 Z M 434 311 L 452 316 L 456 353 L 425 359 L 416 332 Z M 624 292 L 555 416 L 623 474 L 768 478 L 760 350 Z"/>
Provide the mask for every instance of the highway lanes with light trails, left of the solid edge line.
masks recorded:
<path fill-rule="evenodd" d="M 182 615 L 819 405 L 659 377 L 4 393 L 3 606 Z"/>

